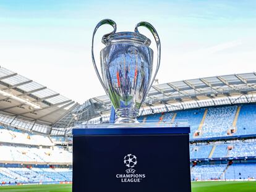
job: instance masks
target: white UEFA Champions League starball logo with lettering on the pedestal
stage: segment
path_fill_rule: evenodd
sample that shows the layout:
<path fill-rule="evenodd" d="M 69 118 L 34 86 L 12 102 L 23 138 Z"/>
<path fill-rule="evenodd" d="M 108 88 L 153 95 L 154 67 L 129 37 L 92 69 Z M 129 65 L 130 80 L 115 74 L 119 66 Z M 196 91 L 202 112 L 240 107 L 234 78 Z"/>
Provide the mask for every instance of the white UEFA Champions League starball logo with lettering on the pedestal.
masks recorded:
<path fill-rule="evenodd" d="M 127 154 L 124 156 L 124 165 L 129 169 L 126 169 L 126 174 L 116 174 L 116 178 L 121 179 L 122 183 L 140 183 L 142 179 L 146 177 L 145 174 L 135 173 L 133 169 L 137 165 L 137 157 L 134 154 Z"/>

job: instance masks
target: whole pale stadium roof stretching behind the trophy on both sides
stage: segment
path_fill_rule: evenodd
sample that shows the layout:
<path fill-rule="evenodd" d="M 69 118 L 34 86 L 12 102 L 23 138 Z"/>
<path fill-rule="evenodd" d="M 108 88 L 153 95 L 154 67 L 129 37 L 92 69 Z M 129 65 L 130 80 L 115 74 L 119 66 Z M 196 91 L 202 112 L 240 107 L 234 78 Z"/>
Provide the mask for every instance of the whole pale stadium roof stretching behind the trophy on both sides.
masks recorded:
<path fill-rule="evenodd" d="M 256 73 L 153 85 L 140 115 L 256 102 Z M 70 135 L 75 121 L 108 121 L 111 102 L 98 96 L 82 105 L 0 67 L 0 123 L 51 135 Z"/>

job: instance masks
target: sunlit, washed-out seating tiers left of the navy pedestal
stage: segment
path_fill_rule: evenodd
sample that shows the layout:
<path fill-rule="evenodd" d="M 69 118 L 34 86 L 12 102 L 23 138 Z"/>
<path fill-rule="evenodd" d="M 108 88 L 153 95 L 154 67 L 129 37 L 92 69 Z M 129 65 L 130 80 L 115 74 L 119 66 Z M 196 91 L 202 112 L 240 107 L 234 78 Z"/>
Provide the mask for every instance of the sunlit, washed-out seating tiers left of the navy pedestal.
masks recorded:
<path fill-rule="evenodd" d="M 0 143 L 0 183 L 3 185 L 72 181 L 72 169 L 49 168 L 51 164 L 57 167 L 72 164 L 72 151 L 54 146 L 49 136 L 1 127 Z M 40 165 L 43 167 L 38 167 Z"/>

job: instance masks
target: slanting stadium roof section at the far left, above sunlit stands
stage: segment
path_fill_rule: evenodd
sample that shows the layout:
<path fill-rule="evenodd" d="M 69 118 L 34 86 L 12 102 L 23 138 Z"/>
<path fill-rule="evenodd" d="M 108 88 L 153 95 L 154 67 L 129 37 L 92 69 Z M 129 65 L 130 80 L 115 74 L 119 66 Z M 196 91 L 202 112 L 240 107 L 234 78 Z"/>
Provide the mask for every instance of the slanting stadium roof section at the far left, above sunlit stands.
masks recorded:
<path fill-rule="evenodd" d="M 22 75 L 0 67 L 0 123 L 50 133 L 78 104 Z"/>

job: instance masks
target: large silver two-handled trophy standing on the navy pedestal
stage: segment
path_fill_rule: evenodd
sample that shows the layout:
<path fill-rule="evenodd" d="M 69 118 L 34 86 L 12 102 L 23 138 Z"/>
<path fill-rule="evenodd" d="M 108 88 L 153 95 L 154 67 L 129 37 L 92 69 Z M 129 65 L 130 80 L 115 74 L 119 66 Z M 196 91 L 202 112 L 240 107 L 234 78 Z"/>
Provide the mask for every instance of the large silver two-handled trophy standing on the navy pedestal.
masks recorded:
<path fill-rule="evenodd" d="M 103 36 L 101 49 L 101 75 L 96 67 L 93 42 L 101 25 L 109 24 L 114 30 Z M 153 34 L 157 46 L 156 72 L 152 78 L 153 50 L 150 39 L 138 31 L 146 27 Z M 93 31 L 92 61 L 101 85 L 108 94 L 116 111 L 115 123 L 138 123 L 136 117 L 140 106 L 150 90 L 160 66 L 161 44 L 155 28 L 148 22 L 140 22 L 134 32 L 116 33 L 116 23 L 110 19 L 101 20 Z M 102 76 L 102 77 L 101 77 Z"/>

